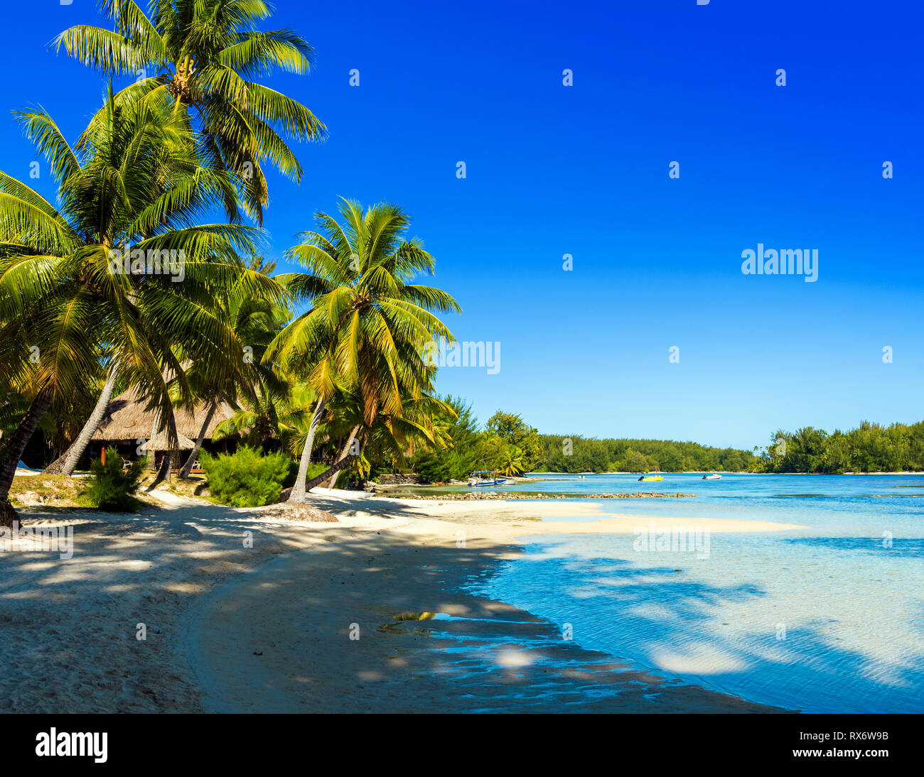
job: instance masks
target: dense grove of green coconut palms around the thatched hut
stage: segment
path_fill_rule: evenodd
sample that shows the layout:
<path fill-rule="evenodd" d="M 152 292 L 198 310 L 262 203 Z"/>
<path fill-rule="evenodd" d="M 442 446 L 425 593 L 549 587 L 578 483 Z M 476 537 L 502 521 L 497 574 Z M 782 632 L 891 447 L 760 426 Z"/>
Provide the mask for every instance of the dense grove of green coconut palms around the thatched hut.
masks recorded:
<path fill-rule="evenodd" d="M 152 445 L 165 448 L 155 483 L 201 459 L 219 481 L 248 460 L 279 485 L 274 473 L 295 454 L 298 501 L 340 472 L 361 478 L 379 460 L 444 446 L 434 417 L 452 410 L 433 395 L 422 353 L 451 337 L 438 316 L 459 306 L 416 282 L 434 259 L 407 233 L 404 210 L 344 199 L 286 252 L 301 271 L 276 274 L 261 258 L 264 165 L 298 181 L 289 143 L 322 139 L 325 127 L 260 79 L 307 74 L 310 45 L 261 30 L 272 11 L 259 0 L 154 2 L 148 12 L 103 0 L 100 11 L 103 25 L 64 30 L 54 44 L 111 79 L 84 131 L 69 140 L 42 109 L 17 115 L 48 162 L 55 201 L 0 173 L 0 520 L 15 517 L 6 496 L 33 435 L 49 472 L 74 472 L 129 389 L 152 412 Z M 201 451 L 227 406 L 213 439 L 267 455 Z M 201 429 L 179 466 L 188 445 L 176 412 L 194 407 L 205 408 Z M 311 461 L 321 455 L 326 465 Z M 121 461 L 101 473 L 113 481 Z"/>

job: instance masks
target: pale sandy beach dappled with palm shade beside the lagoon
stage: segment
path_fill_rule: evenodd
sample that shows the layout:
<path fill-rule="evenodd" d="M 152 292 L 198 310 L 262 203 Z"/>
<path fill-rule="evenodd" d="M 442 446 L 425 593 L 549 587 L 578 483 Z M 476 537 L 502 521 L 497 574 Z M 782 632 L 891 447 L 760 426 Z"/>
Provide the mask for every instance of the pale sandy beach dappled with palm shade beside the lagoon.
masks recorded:
<path fill-rule="evenodd" d="M 0 553 L 0 711 L 769 711 L 627 669 L 459 589 L 521 536 L 631 532 L 649 516 L 540 521 L 602 513 L 318 491 L 339 522 L 169 492 L 140 515 L 23 510 L 27 527 L 73 527 L 74 555 Z M 394 618 L 421 611 L 443 615 Z"/>

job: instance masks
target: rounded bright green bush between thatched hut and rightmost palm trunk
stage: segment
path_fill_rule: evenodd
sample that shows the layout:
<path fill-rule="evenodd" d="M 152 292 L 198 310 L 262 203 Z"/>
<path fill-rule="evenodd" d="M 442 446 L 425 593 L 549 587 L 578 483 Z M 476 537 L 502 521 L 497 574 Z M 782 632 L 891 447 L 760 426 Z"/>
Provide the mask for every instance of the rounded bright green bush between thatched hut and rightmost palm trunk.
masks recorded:
<path fill-rule="evenodd" d="M 263 456 L 260 449 L 247 446 L 219 456 L 203 452 L 200 461 L 213 498 L 235 508 L 272 504 L 298 474 L 298 463 L 286 453 Z"/>

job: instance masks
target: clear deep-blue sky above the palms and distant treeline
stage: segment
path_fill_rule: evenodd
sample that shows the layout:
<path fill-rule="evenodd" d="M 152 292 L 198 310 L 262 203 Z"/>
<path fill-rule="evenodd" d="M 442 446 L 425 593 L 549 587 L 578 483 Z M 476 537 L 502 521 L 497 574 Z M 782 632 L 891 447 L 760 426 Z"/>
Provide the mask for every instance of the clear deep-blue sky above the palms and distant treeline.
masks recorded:
<path fill-rule="evenodd" d="M 404 206 L 463 306 L 457 339 L 501 343 L 498 374 L 437 381 L 482 421 L 750 448 L 779 427 L 924 418 L 918 3 L 277 8 L 318 66 L 272 85 L 330 138 L 300 147 L 300 186 L 271 178 L 268 254 L 338 196 Z M 103 83 L 45 44 L 94 6 L 5 11 L 0 105 L 41 103 L 74 137 Z M 0 167 L 28 178 L 11 120 L 0 141 Z M 817 248 L 818 281 L 743 275 L 758 243 Z"/>

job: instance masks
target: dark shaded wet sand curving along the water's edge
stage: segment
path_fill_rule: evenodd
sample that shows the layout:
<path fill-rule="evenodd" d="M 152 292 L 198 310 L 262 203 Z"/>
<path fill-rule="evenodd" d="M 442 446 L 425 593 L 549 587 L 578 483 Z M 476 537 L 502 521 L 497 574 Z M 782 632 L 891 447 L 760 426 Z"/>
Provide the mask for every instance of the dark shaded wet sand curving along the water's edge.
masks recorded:
<path fill-rule="evenodd" d="M 777 711 L 589 650 L 578 633 L 563 639 L 548 620 L 459 589 L 510 549 L 373 533 L 338 542 L 333 566 L 306 553 L 245 581 L 204 619 L 221 626 L 201 639 L 213 709 Z M 323 580 L 306 591 L 311 575 Z"/>

